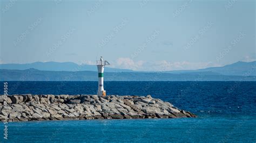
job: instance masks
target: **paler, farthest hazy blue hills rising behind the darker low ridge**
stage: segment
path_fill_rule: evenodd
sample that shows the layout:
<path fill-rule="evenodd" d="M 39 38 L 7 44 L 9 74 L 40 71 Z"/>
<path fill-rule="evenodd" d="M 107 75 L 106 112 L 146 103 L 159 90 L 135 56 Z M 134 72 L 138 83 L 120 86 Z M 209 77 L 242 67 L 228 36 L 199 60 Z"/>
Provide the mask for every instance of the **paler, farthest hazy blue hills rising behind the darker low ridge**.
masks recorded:
<path fill-rule="evenodd" d="M 0 69 L 38 69 L 47 71 L 97 71 L 95 65 L 77 65 L 73 62 L 34 62 L 26 64 L 0 64 Z M 136 72 L 136 73 L 157 73 L 157 71 L 133 71 L 130 69 L 117 69 L 117 68 L 105 68 L 106 72 Z M 207 75 L 232 75 L 232 76 L 256 76 L 256 61 L 253 62 L 236 62 L 231 65 L 226 65 L 223 67 L 211 67 L 205 69 L 197 70 L 174 70 L 174 71 L 164 71 L 163 73 L 172 74 L 185 74 L 198 75 L 199 73 L 204 73 Z"/>

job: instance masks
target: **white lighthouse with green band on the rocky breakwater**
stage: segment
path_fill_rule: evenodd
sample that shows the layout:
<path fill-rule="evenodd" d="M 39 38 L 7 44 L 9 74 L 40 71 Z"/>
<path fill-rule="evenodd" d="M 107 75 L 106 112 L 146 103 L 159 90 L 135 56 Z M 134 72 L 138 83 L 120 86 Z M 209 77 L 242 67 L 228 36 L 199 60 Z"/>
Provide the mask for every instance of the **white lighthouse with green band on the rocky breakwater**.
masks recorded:
<path fill-rule="evenodd" d="M 104 85 L 103 85 L 103 79 L 104 79 L 104 67 L 105 65 L 110 65 L 109 62 L 104 61 L 102 56 L 100 56 L 100 60 L 96 61 L 97 67 L 98 67 L 98 77 L 99 77 L 99 82 L 98 82 L 98 96 L 106 96 L 106 90 L 104 90 Z"/>

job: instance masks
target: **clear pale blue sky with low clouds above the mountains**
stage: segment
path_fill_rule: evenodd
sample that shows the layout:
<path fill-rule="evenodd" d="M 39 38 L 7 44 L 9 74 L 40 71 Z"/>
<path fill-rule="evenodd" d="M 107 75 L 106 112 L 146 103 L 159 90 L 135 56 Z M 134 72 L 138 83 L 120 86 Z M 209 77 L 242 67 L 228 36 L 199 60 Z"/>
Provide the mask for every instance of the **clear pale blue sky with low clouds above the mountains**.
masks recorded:
<path fill-rule="evenodd" d="M 1 0 L 1 63 L 145 71 L 254 61 L 255 1 Z"/>

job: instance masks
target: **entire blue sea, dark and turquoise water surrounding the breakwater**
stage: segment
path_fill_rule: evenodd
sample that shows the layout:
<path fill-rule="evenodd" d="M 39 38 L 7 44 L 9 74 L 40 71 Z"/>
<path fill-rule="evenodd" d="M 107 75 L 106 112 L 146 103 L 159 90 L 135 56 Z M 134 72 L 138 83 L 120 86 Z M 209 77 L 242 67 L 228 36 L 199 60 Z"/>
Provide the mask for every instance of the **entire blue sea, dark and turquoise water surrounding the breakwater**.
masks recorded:
<path fill-rule="evenodd" d="M 96 94 L 98 88 L 86 81 L 8 85 L 9 94 Z M 9 122 L 7 141 L 256 142 L 256 82 L 112 81 L 104 88 L 107 95 L 151 95 L 198 118 Z M 3 134 L 0 141 L 6 142 Z"/>

